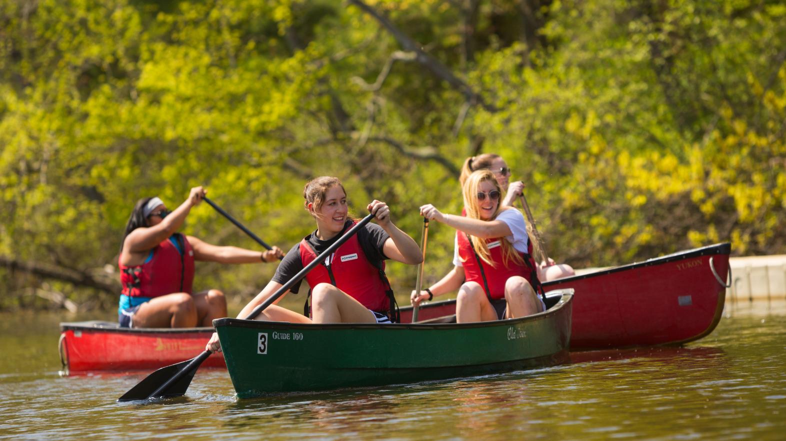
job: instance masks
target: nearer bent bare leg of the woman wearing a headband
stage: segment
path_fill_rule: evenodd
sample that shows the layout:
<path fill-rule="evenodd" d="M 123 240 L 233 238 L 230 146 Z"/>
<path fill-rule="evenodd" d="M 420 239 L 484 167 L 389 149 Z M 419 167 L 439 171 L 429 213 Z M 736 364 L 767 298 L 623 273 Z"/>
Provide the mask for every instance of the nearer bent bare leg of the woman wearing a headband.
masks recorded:
<path fill-rule="evenodd" d="M 196 326 L 196 305 L 188 292 L 175 292 L 142 303 L 134 328 L 191 328 Z"/>

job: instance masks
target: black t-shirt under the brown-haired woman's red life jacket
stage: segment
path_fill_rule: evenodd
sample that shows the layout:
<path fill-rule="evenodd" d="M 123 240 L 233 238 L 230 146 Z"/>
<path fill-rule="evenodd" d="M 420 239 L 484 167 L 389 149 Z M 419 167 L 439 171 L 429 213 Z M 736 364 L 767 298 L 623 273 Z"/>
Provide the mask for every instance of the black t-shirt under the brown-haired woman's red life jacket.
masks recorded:
<path fill-rule="evenodd" d="M 352 221 L 347 220 L 347 223 L 344 224 L 344 228 L 341 233 L 336 234 L 335 237 L 332 237 L 328 241 L 321 241 L 317 237 L 317 231 L 314 230 L 313 233 L 310 233 L 306 237 L 306 241 L 311 245 L 311 248 L 314 248 L 314 251 L 317 254 L 328 249 L 328 247 L 334 244 L 339 237 L 343 236 L 350 227 Z M 369 261 L 380 262 L 382 260 L 388 259 L 387 255 L 384 254 L 383 248 L 385 241 L 387 238 L 390 237 L 385 230 L 382 230 L 381 226 L 378 226 L 373 223 L 365 224 L 365 228 L 358 230 L 358 242 L 360 243 L 360 247 L 365 253 L 365 257 L 369 259 Z M 289 250 L 287 255 L 284 256 L 284 259 L 281 260 L 279 263 L 278 268 L 276 269 L 276 274 L 273 275 L 273 281 L 284 285 L 286 282 L 290 281 L 292 277 L 295 277 L 296 274 L 303 270 L 303 261 L 300 260 L 300 242 L 295 244 L 292 249 Z M 305 277 L 303 277 L 305 279 Z M 301 280 L 302 281 L 302 280 Z M 294 292 L 297 294 L 298 290 L 300 289 L 300 282 L 298 281 L 295 285 L 292 285 L 292 288 L 289 288 L 290 292 Z"/>

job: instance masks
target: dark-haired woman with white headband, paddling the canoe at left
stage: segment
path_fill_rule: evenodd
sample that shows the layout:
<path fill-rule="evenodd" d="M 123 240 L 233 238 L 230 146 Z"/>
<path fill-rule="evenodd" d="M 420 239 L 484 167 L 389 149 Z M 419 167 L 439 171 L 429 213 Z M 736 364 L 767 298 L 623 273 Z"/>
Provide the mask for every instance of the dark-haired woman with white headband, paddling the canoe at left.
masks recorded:
<path fill-rule="evenodd" d="M 191 189 L 174 211 L 158 197 L 137 201 L 120 244 L 118 266 L 123 292 L 118 320 L 127 328 L 189 328 L 211 326 L 226 317 L 226 298 L 218 289 L 193 292 L 194 261 L 219 263 L 274 262 L 282 254 L 273 247 L 258 252 L 219 247 L 178 233 L 185 216 L 207 191 Z"/>

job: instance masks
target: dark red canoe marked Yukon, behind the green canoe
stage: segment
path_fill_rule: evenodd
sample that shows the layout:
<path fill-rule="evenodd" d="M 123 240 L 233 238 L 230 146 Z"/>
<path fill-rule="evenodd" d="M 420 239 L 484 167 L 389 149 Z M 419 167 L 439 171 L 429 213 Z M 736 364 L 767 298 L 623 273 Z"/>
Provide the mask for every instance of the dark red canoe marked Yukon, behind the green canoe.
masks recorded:
<path fill-rule="evenodd" d="M 731 244 L 564 277 L 545 291 L 574 288 L 571 350 L 682 344 L 711 333 L 721 320 Z M 418 319 L 446 320 L 455 300 L 424 305 Z M 402 308 L 402 322 L 412 308 Z"/>

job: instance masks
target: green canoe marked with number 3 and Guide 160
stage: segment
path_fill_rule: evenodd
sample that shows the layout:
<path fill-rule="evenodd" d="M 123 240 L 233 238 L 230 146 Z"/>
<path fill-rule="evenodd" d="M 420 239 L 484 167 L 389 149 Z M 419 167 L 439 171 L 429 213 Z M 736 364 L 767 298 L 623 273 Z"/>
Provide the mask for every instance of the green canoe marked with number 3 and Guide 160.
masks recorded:
<path fill-rule="evenodd" d="M 213 321 L 238 398 L 468 377 L 568 360 L 573 290 L 545 312 L 479 323 Z"/>

